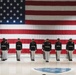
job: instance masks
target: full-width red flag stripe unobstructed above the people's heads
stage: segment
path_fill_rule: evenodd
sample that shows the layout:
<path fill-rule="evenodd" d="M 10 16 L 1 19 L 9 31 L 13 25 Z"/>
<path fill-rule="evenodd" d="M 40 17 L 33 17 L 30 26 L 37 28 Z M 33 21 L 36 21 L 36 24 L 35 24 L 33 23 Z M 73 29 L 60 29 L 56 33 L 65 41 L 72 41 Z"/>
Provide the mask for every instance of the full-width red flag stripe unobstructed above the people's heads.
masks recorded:
<path fill-rule="evenodd" d="M 75 35 L 76 30 L 0 30 L 0 34 Z"/>

